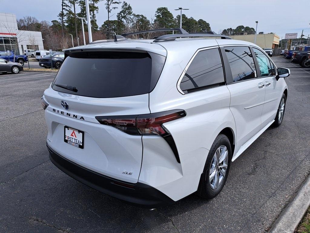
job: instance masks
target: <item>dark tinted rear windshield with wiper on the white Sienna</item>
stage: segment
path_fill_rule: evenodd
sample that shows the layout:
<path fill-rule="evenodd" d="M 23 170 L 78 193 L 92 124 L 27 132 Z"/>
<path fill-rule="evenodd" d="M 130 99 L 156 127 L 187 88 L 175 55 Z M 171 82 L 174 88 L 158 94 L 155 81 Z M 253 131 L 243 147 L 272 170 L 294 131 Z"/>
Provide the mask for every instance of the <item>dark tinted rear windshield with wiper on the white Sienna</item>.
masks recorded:
<path fill-rule="evenodd" d="M 61 65 L 52 88 L 96 98 L 146 94 L 155 87 L 164 62 L 165 57 L 146 52 L 71 53 Z M 56 84 L 69 85 L 77 91 Z"/>

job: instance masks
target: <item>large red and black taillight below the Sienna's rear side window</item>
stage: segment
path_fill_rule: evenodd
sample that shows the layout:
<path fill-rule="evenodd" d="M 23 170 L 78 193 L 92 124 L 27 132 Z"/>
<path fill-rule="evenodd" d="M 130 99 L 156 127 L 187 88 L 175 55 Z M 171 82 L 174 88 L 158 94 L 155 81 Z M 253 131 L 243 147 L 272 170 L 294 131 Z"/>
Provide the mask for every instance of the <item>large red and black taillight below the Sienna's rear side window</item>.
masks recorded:
<path fill-rule="evenodd" d="M 129 116 L 96 117 L 100 124 L 113 126 L 130 135 L 160 135 L 170 145 L 178 162 L 179 153 L 170 132 L 162 125 L 165 122 L 185 117 L 182 109 Z"/>

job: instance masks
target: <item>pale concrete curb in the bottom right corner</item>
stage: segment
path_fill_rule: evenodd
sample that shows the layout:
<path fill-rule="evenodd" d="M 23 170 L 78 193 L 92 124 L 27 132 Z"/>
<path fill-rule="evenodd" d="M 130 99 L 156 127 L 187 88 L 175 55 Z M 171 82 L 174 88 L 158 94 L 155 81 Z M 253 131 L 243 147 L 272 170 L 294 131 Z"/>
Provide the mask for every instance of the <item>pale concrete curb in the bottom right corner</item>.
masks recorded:
<path fill-rule="evenodd" d="M 295 197 L 272 224 L 268 233 L 293 233 L 310 206 L 310 175 L 303 182 Z"/>

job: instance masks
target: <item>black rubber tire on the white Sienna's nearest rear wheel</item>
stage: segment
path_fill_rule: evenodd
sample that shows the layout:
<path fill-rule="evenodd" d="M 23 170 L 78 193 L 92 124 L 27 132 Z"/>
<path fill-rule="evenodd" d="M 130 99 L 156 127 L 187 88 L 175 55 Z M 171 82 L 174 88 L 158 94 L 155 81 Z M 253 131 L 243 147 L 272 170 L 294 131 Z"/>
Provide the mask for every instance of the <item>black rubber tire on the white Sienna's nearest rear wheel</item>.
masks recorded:
<path fill-rule="evenodd" d="M 225 146 L 227 148 L 227 151 L 228 151 L 227 169 L 226 169 L 226 172 L 225 172 L 225 176 L 222 176 L 222 180 L 219 183 L 218 187 L 213 189 L 211 187 L 210 182 L 209 182 L 209 179 L 210 179 L 210 169 L 211 169 L 211 166 L 213 166 L 212 165 L 213 164 L 212 163 L 213 157 L 215 156 L 215 153 L 218 150 L 218 148 L 220 148 L 221 146 Z M 216 139 L 214 140 L 214 142 L 213 142 L 213 144 L 212 144 L 212 146 L 210 148 L 210 151 L 208 153 L 206 164 L 205 164 L 205 167 L 203 169 L 203 173 L 201 174 L 201 178 L 200 178 L 200 182 L 199 182 L 199 186 L 198 186 L 198 190 L 197 190 L 197 195 L 198 196 L 200 196 L 202 198 L 205 198 L 205 199 L 212 199 L 217 194 L 220 193 L 220 191 L 223 189 L 223 187 L 225 185 L 225 182 L 226 182 L 226 179 L 227 179 L 227 176 L 228 176 L 231 159 L 232 159 L 232 153 L 231 153 L 231 145 L 230 145 L 229 139 L 226 137 L 226 135 L 219 134 L 216 137 Z M 218 166 L 215 166 L 215 169 L 219 169 Z"/>

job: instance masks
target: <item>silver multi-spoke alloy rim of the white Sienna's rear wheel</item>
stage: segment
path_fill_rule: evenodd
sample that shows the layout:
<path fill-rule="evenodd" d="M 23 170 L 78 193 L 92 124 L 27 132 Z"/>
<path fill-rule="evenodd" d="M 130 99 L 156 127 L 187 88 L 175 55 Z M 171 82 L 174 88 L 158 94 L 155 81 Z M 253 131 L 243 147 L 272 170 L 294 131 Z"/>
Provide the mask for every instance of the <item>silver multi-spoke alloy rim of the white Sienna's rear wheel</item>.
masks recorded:
<path fill-rule="evenodd" d="M 217 189 L 223 182 L 228 167 L 228 150 L 222 145 L 217 148 L 213 155 L 210 170 L 209 170 L 209 184 L 211 189 Z"/>

